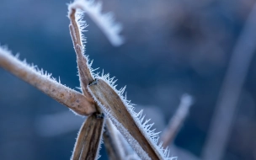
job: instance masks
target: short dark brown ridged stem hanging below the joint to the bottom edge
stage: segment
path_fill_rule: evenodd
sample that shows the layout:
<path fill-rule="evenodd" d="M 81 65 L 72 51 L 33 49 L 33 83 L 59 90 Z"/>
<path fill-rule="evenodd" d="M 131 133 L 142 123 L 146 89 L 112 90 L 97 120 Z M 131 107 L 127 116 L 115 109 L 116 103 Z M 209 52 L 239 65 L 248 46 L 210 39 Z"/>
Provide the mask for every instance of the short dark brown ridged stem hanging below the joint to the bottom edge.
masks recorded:
<path fill-rule="evenodd" d="M 78 133 L 72 160 L 97 159 L 103 127 L 104 117 L 93 114 L 85 120 Z"/>

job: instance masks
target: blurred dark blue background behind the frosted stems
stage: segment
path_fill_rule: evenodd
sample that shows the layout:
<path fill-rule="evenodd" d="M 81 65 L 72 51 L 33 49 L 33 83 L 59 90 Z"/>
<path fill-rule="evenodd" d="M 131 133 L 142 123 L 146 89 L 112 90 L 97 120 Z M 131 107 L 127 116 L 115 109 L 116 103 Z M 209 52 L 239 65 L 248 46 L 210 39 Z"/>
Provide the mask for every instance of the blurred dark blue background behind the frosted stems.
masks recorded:
<path fill-rule="evenodd" d="M 1 0 L 0 42 L 13 54 L 20 53 L 20 59 L 76 88 L 79 82 L 67 3 L 70 1 Z M 128 99 L 156 121 L 157 131 L 168 124 L 180 97 L 191 94 L 195 103 L 173 141 L 173 146 L 191 156 L 187 159 L 204 157 L 212 133 L 211 120 L 215 120 L 213 113 L 224 97 L 227 108 L 221 108 L 225 112 L 219 125 L 225 126 L 226 118 L 232 125 L 227 125 L 230 134 L 225 138 L 221 159 L 256 159 L 255 1 L 103 3 L 104 12 L 115 13 L 116 20 L 123 24 L 125 44 L 110 45 L 85 16 L 86 53 L 94 60 L 93 67 L 117 77 L 118 88 L 126 85 Z M 231 76 L 227 76 L 228 71 Z M 84 118 L 3 68 L 0 88 L 1 159 L 69 159 Z M 213 136 L 215 141 L 222 140 L 221 131 Z M 100 153 L 100 159 L 107 159 L 104 147 Z"/>

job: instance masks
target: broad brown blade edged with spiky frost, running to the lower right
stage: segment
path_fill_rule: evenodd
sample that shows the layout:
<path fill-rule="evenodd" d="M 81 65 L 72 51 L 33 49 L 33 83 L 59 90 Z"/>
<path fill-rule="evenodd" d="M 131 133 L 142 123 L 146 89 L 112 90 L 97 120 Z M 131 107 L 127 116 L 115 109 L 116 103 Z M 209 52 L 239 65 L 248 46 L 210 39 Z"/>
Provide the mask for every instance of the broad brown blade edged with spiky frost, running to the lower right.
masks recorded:
<path fill-rule="evenodd" d="M 95 101 L 104 109 L 120 133 L 130 143 L 141 159 L 174 159 L 169 151 L 158 143 L 159 133 L 152 130 L 150 120 L 144 120 L 142 111 L 136 113 L 134 107 L 122 95 L 125 88 L 117 91 L 113 86 L 113 78 L 109 75 L 98 77 L 88 86 Z"/>

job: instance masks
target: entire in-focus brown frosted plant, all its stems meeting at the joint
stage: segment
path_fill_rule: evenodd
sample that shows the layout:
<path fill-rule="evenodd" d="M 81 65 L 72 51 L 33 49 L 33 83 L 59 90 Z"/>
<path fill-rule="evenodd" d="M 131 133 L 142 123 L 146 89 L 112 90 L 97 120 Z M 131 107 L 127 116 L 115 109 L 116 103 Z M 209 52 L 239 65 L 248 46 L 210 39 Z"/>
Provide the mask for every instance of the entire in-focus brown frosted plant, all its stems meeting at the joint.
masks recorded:
<path fill-rule="evenodd" d="M 118 91 L 115 88 L 114 79 L 109 78 L 108 74 L 103 74 L 102 77 L 92 74 L 93 70 L 91 70 L 91 64 L 88 64 L 88 56 L 84 56 L 83 53 L 84 39 L 81 32 L 85 25 L 80 19 L 77 9 L 84 11 L 91 9 L 92 12 L 99 13 L 99 7 L 93 6 L 93 1 L 81 0 L 69 5 L 68 17 L 71 20 L 69 29 L 77 54 L 77 67 L 83 94 L 57 83 L 51 79 L 51 75 L 37 72 L 35 67 L 28 67 L 1 48 L 0 67 L 13 72 L 14 75 L 39 88 L 53 99 L 74 109 L 78 114 L 89 115 L 78 133 L 72 160 L 98 158 L 105 120 L 104 114 L 109 117 L 141 159 L 175 159 L 175 157 L 169 157 L 168 149 L 164 149 L 163 143 L 158 142 L 159 133 L 151 129 L 153 124 L 148 123 L 150 120 L 144 120 L 145 116 L 142 115 L 142 111 L 136 113 L 130 101 L 123 96 L 125 88 Z M 112 33 L 113 36 L 117 33 L 119 29 L 115 25 L 110 25 L 113 24 L 110 19 L 102 14 L 95 15 L 99 16 L 98 20 L 102 20 L 100 25 L 107 25 L 104 28 L 106 32 Z M 109 22 L 107 22 L 108 20 Z M 83 102 L 80 101 L 82 98 L 85 99 Z M 84 105 L 79 105 L 81 103 Z M 116 148 L 118 149 L 118 147 Z M 123 153 L 121 154 L 120 157 L 122 158 Z"/>

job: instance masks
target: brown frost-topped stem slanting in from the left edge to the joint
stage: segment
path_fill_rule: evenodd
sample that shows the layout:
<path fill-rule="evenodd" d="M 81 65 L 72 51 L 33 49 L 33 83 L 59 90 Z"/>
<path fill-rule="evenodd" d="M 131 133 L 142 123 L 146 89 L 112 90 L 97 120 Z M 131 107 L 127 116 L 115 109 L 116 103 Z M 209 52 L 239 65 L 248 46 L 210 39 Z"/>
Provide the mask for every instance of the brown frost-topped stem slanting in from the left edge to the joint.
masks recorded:
<path fill-rule="evenodd" d="M 66 105 L 79 115 L 91 115 L 96 111 L 95 107 L 88 102 L 88 98 L 84 97 L 83 94 L 57 83 L 49 76 L 37 72 L 35 68 L 19 61 L 17 57 L 1 47 L 0 67 L 38 88 L 52 99 L 56 99 L 59 103 Z"/>

